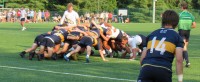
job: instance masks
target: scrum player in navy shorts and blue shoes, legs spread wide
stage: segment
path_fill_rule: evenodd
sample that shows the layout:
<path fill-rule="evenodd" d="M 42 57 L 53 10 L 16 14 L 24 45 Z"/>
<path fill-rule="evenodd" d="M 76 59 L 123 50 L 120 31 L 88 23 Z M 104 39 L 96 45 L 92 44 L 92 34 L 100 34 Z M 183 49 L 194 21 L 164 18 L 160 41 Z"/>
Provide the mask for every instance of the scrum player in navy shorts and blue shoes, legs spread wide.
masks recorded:
<path fill-rule="evenodd" d="M 64 56 L 64 59 L 66 61 L 70 61 L 69 60 L 69 56 L 71 56 L 74 53 L 77 53 L 81 50 L 81 48 L 86 48 L 87 54 L 86 54 L 86 63 L 89 63 L 89 56 L 91 55 L 91 47 L 94 46 L 95 49 L 99 50 L 99 53 L 101 55 L 101 58 L 103 59 L 103 61 L 107 61 L 104 58 L 104 55 L 102 53 L 102 51 L 100 50 L 100 43 L 99 43 L 99 37 L 100 37 L 100 32 L 98 29 L 98 26 L 96 25 L 96 23 L 94 23 L 94 21 L 92 21 L 92 25 L 91 25 L 91 29 L 90 31 L 86 31 L 84 32 L 84 34 L 86 36 L 83 36 L 78 44 L 78 46 L 76 47 L 75 50 L 69 52 L 67 55 Z"/>

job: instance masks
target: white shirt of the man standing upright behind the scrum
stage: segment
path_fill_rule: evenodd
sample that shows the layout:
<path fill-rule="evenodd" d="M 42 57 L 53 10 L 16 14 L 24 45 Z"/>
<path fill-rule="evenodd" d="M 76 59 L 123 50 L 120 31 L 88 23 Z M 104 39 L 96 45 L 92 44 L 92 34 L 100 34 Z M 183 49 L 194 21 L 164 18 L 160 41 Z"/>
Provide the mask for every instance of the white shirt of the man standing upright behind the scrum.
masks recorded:
<path fill-rule="evenodd" d="M 72 12 L 68 12 L 65 11 L 63 14 L 63 17 L 60 21 L 60 24 L 63 24 L 64 21 L 67 21 L 69 25 L 76 25 L 76 19 L 79 18 L 79 15 L 77 12 L 72 11 Z"/>

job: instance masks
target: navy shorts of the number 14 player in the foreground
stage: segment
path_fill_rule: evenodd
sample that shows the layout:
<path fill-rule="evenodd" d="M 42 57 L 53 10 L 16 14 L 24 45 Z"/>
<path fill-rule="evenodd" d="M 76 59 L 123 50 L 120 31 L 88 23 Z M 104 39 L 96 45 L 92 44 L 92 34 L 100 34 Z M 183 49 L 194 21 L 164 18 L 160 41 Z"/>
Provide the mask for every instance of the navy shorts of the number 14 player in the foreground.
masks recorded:
<path fill-rule="evenodd" d="M 144 66 L 137 82 L 172 82 L 172 72 L 164 68 Z"/>

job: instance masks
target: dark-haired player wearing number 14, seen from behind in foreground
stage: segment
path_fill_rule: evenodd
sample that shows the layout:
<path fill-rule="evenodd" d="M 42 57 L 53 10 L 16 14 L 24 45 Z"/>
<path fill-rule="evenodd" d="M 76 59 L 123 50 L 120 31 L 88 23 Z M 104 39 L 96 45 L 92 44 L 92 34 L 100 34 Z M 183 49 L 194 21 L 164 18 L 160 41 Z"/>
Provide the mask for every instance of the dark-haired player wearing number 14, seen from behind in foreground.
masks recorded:
<path fill-rule="evenodd" d="M 178 14 L 166 10 L 162 28 L 147 36 L 146 49 L 141 56 L 138 82 L 172 82 L 172 62 L 176 58 L 178 82 L 183 81 L 183 39 L 174 31 L 179 22 Z"/>

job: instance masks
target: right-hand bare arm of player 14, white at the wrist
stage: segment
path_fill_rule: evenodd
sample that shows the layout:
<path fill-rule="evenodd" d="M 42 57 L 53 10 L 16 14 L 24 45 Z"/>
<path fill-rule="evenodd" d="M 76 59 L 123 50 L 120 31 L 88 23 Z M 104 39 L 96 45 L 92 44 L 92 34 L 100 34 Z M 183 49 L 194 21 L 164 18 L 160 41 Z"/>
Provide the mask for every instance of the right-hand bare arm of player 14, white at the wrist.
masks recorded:
<path fill-rule="evenodd" d="M 183 48 L 176 48 L 176 73 L 178 75 L 178 82 L 183 81 Z"/>

